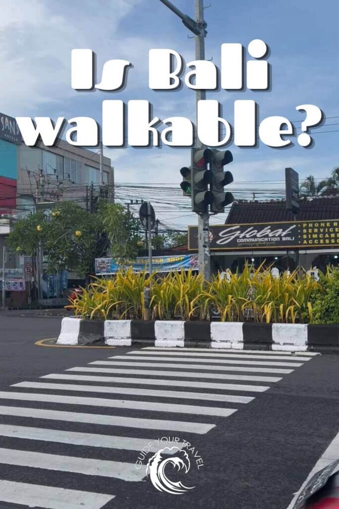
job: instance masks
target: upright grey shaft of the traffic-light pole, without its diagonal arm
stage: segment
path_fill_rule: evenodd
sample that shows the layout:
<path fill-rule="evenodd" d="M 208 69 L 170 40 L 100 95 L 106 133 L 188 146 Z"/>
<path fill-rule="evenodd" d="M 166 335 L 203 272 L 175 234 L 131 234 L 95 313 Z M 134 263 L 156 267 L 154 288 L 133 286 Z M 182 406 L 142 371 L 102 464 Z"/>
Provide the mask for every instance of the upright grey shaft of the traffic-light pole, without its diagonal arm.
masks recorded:
<path fill-rule="evenodd" d="M 205 35 L 203 29 L 204 23 L 204 5 L 203 0 L 195 0 L 195 21 L 201 26 L 200 35 L 195 36 L 195 58 L 196 60 L 205 60 Z M 198 101 L 206 99 L 205 90 L 196 91 L 196 107 L 198 120 Z M 197 148 L 204 148 L 200 143 L 197 134 Z M 198 263 L 199 274 L 203 274 L 206 281 L 211 277 L 211 259 L 209 249 L 209 215 L 208 211 L 198 214 Z"/>

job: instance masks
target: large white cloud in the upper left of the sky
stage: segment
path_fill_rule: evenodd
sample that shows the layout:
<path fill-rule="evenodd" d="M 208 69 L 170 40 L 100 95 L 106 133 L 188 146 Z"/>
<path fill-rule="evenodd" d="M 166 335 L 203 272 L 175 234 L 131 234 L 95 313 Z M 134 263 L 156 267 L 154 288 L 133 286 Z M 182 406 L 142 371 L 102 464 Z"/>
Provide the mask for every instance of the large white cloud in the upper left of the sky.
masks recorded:
<path fill-rule="evenodd" d="M 48 0 L 9 3 L 0 17 L 1 110 L 13 116 L 35 116 L 38 106 L 48 104 L 53 116 L 53 103 L 55 108 L 56 102 L 77 94 L 70 84 L 73 48 L 100 52 L 98 64 L 126 58 L 128 52 L 138 58 L 148 42 L 119 36 L 118 30 L 120 21 L 141 1 L 101 0 L 101 9 L 88 0 L 59 4 L 59 9 Z"/>

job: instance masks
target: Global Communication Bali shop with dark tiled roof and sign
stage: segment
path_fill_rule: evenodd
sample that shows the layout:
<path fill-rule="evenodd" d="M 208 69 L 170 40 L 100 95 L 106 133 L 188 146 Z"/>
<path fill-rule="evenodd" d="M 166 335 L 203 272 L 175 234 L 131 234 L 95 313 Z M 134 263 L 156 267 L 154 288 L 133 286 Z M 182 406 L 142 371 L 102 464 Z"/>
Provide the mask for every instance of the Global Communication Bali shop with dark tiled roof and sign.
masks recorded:
<path fill-rule="evenodd" d="M 189 227 L 189 251 L 198 229 Z M 339 263 L 339 196 L 300 200 L 296 217 L 285 201 L 234 202 L 225 224 L 210 227 L 211 269 L 242 271 L 246 262 L 326 270 Z"/>

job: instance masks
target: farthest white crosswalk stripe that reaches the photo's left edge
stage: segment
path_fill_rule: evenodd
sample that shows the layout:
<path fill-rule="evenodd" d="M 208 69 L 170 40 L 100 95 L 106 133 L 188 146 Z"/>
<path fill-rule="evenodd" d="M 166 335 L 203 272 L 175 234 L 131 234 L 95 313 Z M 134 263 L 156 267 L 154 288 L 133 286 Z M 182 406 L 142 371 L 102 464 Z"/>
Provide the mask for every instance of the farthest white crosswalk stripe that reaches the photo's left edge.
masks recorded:
<path fill-rule="evenodd" d="M 236 409 L 194 405 L 177 405 L 174 403 L 152 403 L 149 401 L 109 400 L 106 398 L 81 398 L 79 396 L 63 396 L 59 394 L 39 394 L 33 392 L 0 391 L 0 399 L 40 401 L 43 403 L 62 403 L 65 405 L 82 405 L 105 408 L 128 408 L 130 410 L 148 410 L 151 412 L 192 413 L 200 415 L 217 415 L 229 417 Z"/>

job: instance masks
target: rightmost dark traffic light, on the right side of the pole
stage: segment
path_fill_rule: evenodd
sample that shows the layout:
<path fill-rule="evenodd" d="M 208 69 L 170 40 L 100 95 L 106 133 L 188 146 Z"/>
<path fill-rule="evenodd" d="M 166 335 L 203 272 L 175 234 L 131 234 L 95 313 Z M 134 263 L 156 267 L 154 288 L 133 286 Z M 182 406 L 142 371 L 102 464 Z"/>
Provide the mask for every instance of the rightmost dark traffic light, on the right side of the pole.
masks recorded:
<path fill-rule="evenodd" d="M 232 153 L 229 150 L 212 150 L 210 171 L 212 173 L 210 190 L 213 194 L 210 211 L 214 213 L 224 212 L 224 207 L 234 201 L 233 194 L 224 192 L 224 186 L 233 182 L 231 172 L 224 172 L 224 166 L 233 161 Z"/>

